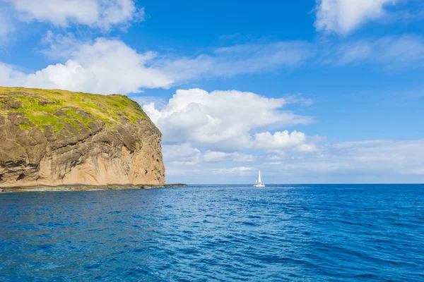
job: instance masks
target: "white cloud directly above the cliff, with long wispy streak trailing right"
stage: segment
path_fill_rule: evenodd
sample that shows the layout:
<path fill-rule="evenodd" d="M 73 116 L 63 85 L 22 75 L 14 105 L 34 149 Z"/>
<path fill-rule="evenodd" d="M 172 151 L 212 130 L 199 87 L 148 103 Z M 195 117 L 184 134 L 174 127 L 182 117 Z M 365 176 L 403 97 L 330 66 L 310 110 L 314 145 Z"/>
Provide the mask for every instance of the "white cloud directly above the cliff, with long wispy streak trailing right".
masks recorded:
<path fill-rule="evenodd" d="M 195 59 L 158 56 L 153 51 L 138 53 L 118 39 L 83 40 L 72 33 L 47 31 L 42 53 L 60 63 L 30 73 L 11 84 L 25 87 L 61 88 L 110 94 L 141 92 L 142 88 L 168 88 L 186 80 L 269 71 L 297 66 L 309 55 L 307 43 L 278 42 L 216 49 L 214 54 Z M 297 48 L 300 49 L 297 49 Z M 206 59 L 207 58 L 207 59 Z M 205 59 L 205 60 L 204 60 Z M 13 71 L 17 68 L 11 66 Z M 24 75 L 24 73 L 22 73 Z M 1 82 L 1 78 L 0 78 Z M 286 103 L 310 104 L 310 99 L 293 95 Z"/>

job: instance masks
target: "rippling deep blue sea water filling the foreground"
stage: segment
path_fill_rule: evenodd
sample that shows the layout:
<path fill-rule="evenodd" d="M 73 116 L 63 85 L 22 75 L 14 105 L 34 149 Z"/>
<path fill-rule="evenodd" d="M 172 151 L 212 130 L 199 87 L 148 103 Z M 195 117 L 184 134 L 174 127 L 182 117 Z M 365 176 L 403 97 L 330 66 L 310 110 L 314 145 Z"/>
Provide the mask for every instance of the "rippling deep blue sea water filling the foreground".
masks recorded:
<path fill-rule="evenodd" d="M 424 185 L 1 193 L 0 281 L 424 281 Z"/>

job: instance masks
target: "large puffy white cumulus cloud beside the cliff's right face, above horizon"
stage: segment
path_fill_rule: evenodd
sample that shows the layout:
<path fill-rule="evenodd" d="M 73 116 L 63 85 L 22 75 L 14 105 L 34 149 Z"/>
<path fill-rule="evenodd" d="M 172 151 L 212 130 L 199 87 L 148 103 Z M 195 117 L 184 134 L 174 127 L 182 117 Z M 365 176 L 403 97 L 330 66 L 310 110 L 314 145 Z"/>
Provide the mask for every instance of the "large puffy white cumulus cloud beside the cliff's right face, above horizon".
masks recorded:
<path fill-rule="evenodd" d="M 143 99 L 142 99 L 143 100 Z M 274 131 L 288 125 L 311 123 L 313 118 L 284 111 L 288 104 L 310 104 L 300 95 L 267 98 L 252 92 L 177 90 L 165 105 L 144 104 L 143 110 L 163 133 L 164 161 L 170 180 L 196 174 L 192 183 L 226 181 L 227 176 L 247 176 L 257 171 L 261 154 L 317 152 L 305 133 Z M 271 157 L 279 159 L 279 157 Z M 235 164 L 244 166 L 235 166 Z M 190 166 L 190 168 L 187 168 Z M 186 167 L 184 170 L 183 168 Z M 202 179 L 199 176 L 203 176 Z"/>

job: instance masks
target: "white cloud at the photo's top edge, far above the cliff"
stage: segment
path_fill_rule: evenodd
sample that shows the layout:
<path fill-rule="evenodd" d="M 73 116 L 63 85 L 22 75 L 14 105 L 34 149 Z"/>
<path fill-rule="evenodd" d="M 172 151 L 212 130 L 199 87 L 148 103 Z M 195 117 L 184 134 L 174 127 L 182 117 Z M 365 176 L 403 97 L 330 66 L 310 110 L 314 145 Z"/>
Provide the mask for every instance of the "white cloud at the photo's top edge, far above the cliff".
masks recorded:
<path fill-rule="evenodd" d="M 3 0 L 24 21 L 37 20 L 67 27 L 71 23 L 109 30 L 144 19 L 144 9 L 133 0 Z"/>

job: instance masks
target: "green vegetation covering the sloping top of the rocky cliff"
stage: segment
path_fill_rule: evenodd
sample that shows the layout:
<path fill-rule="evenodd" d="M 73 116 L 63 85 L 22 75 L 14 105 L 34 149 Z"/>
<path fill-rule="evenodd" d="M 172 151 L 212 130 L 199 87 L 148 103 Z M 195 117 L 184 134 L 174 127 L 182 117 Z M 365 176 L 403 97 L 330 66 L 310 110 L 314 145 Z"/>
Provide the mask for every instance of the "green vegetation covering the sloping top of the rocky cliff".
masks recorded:
<path fill-rule="evenodd" d="M 6 112 L 23 113 L 28 121 L 19 124 L 21 129 L 37 126 L 45 130 L 51 126 L 55 133 L 66 125 L 78 131 L 89 130 L 88 125 L 95 119 L 113 128 L 123 118 L 131 123 L 146 118 L 139 104 L 124 95 L 0 87 L 0 114 Z"/>

